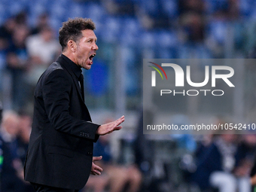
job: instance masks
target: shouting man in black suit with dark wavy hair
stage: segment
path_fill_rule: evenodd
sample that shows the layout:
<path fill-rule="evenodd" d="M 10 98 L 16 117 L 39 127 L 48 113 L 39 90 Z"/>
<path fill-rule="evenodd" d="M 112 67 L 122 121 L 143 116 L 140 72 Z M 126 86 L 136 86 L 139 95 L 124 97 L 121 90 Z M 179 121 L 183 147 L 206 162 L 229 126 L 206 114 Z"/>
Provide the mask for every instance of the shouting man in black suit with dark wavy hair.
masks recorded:
<path fill-rule="evenodd" d="M 120 130 L 124 116 L 97 125 L 84 104 L 81 68 L 90 69 L 96 55 L 95 24 L 76 18 L 59 29 L 62 54 L 41 75 L 35 88 L 34 117 L 24 167 L 25 180 L 36 191 L 78 191 L 102 168 L 93 163 L 93 142 Z"/>

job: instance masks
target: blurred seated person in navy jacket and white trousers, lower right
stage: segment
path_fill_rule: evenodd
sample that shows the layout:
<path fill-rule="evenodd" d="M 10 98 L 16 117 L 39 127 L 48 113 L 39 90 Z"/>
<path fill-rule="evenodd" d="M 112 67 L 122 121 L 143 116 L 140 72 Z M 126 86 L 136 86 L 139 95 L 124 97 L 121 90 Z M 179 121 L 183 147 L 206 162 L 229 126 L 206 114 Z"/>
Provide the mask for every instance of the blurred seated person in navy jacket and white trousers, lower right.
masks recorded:
<path fill-rule="evenodd" d="M 248 175 L 236 175 L 237 136 L 222 134 L 214 139 L 212 145 L 203 151 L 198 160 L 193 180 L 202 190 L 216 187 L 220 192 L 250 191 Z M 238 176 L 238 177 L 236 177 Z"/>

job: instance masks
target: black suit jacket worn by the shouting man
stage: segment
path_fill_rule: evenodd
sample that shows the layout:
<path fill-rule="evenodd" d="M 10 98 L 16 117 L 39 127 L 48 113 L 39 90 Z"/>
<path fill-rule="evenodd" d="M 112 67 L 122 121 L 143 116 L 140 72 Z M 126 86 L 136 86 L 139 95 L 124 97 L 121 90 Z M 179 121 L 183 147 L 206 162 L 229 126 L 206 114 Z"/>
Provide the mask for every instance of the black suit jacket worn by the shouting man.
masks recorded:
<path fill-rule="evenodd" d="M 61 55 L 39 78 L 26 181 L 76 190 L 86 184 L 99 125 L 91 123 L 78 84 L 80 74 L 81 69 Z"/>

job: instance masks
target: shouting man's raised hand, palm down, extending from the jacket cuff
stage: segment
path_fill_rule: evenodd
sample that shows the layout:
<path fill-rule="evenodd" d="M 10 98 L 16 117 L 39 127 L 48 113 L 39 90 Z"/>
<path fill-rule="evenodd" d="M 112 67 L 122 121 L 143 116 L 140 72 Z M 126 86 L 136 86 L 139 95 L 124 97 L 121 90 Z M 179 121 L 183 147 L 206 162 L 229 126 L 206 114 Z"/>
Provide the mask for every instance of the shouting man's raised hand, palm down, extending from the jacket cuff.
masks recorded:
<path fill-rule="evenodd" d="M 120 123 L 123 123 L 124 121 L 124 116 L 120 117 L 117 120 L 114 120 L 110 123 L 105 123 L 101 126 L 99 126 L 96 134 L 98 134 L 99 136 L 104 136 L 108 133 L 112 133 L 115 130 L 120 130 L 122 129 L 122 126 L 120 126 Z"/>

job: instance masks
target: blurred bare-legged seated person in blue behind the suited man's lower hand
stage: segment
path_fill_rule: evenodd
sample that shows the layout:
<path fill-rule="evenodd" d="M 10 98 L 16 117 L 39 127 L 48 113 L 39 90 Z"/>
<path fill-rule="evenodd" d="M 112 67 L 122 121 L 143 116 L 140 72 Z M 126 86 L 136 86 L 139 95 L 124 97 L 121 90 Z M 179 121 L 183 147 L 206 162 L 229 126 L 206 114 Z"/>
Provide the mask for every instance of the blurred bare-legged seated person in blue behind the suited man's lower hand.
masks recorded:
<path fill-rule="evenodd" d="M 139 191 L 140 184 L 142 182 L 142 174 L 139 169 L 134 166 L 120 166 L 112 161 L 111 148 L 108 141 L 108 136 L 100 136 L 98 142 L 94 146 L 93 156 L 102 155 L 102 160 L 99 161 L 100 166 L 104 170 L 106 175 L 103 175 L 103 179 L 98 183 L 98 178 L 93 182 L 90 179 L 86 187 L 93 187 L 96 191 L 102 191 L 109 184 L 109 191 L 121 192 L 126 184 L 129 187 L 126 191 L 136 192 Z M 108 182 L 107 182 L 108 181 Z M 99 185 L 101 184 L 101 190 Z M 105 187 L 104 187 L 105 184 Z"/>

